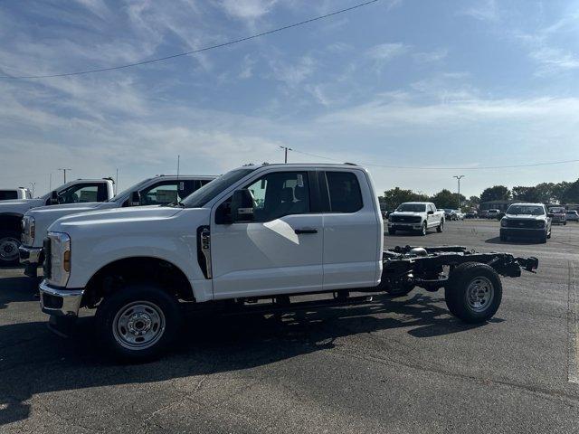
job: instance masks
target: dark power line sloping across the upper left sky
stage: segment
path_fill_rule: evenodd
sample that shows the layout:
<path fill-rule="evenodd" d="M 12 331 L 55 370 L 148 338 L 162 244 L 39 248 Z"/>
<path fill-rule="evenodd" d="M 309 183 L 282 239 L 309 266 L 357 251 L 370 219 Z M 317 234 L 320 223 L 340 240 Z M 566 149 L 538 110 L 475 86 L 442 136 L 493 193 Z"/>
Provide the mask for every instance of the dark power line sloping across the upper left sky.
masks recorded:
<path fill-rule="evenodd" d="M 69 77 L 72 75 L 84 75 L 84 74 L 90 74 L 93 72 L 104 72 L 104 71 L 115 71 L 115 70 L 122 70 L 122 69 L 126 69 L 126 68 L 131 68 L 133 66 L 139 66 L 139 65 L 146 65 L 148 63 L 155 63 L 157 61 L 167 61 L 169 59 L 175 59 L 176 57 L 183 57 L 183 56 L 188 56 L 191 54 L 196 54 L 198 52 L 208 52 L 209 50 L 214 50 L 216 48 L 222 48 L 222 47 L 226 47 L 228 45 L 233 45 L 234 43 L 239 43 L 239 42 L 245 42 L 245 41 L 250 41 L 252 39 L 255 38 L 259 38 L 261 36 L 265 36 L 271 33 L 278 33 L 278 32 L 282 32 L 284 30 L 288 30 L 291 29 L 293 27 L 298 27 L 299 25 L 303 25 L 303 24 L 309 24 L 309 23 L 313 23 L 315 21 L 319 21 L 319 20 L 323 20 L 325 18 L 328 18 L 330 16 L 334 16 L 337 14 L 344 14 L 346 12 L 352 11 L 354 9 L 357 9 L 359 7 L 363 7 L 366 5 L 371 5 L 373 3 L 377 3 L 380 0 L 370 0 L 364 3 L 360 3 L 358 5 L 353 5 L 350 7 L 346 7 L 345 9 L 340 9 L 339 11 L 334 11 L 334 12 L 330 12 L 329 14 L 324 14 L 324 15 L 319 15 L 316 16 L 315 18 L 310 18 L 308 20 L 305 21 L 300 21 L 299 23 L 294 23 L 294 24 L 288 24 L 288 25 L 284 25 L 283 27 L 279 27 L 277 29 L 273 29 L 273 30 L 269 30 L 267 32 L 262 32 L 262 33 L 257 33 L 257 34 L 252 34 L 251 36 L 246 36 L 244 38 L 240 38 L 240 39 L 235 39 L 233 41 L 228 41 L 228 42 L 223 42 L 223 43 L 217 43 L 215 45 L 210 45 L 204 48 L 200 48 L 197 50 L 192 50 L 190 52 L 179 52 L 176 54 L 171 54 L 170 56 L 165 56 L 165 57 L 158 57 L 157 59 L 150 59 L 148 61 L 136 61 L 134 63 L 127 63 L 124 65 L 119 65 L 119 66 L 111 66 L 109 68 L 99 68 L 99 69 L 95 69 L 95 70 L 86 70 L 86 71 L 75 71 L 75 72 L 63 72 L 60 74 L 49 74 L 49 75 L 0 75 L 0 79 L 14 79 L 14 80 L 20 80 L 20 79 L 52 79 L 55 77 Z"/>

